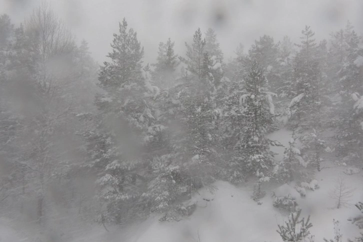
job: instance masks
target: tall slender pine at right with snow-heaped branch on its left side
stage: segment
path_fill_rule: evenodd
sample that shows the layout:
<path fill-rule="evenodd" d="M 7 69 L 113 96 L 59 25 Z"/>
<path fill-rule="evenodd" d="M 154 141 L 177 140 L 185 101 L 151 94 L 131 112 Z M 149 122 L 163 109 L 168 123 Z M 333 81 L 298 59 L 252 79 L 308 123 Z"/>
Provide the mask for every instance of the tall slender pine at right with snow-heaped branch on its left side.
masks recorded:
<path fill-rule="evenodd" d="M 289 104 L 289 125 L 296 130 L 298 138 L 302 142 L 301 151 L 309 162 L 320 169 L 321 146 L 315 145 L 325 141 L 321 136 L 322 120 L 319 115 L 321 110 L 320 88 L 322 74 L 318 58 L 314 32 L 309 26 L 301 31 L 302 36 L 300 51 L 294 59 L 294 79 L 296 81 L 296 96 Z"/>

